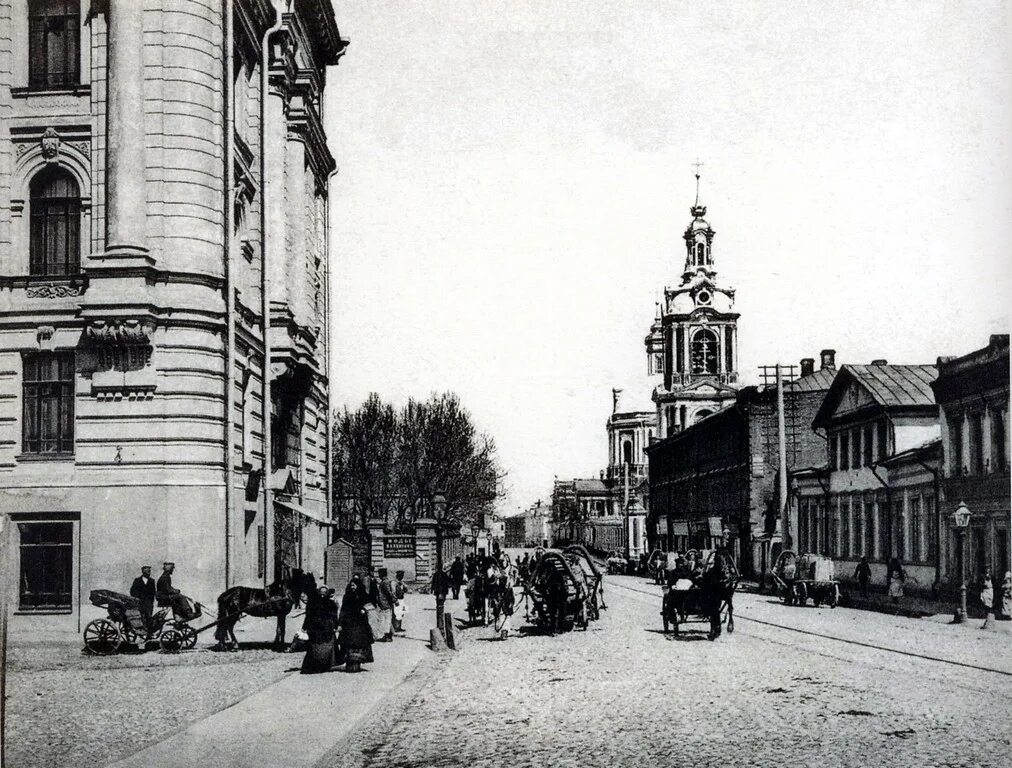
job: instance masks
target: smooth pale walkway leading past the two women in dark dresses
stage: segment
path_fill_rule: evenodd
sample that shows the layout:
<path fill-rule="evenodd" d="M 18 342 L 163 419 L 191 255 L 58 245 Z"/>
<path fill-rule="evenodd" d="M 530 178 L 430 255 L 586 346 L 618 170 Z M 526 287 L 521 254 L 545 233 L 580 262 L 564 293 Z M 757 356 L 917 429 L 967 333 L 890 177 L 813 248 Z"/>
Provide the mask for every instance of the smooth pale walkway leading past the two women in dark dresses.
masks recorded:
<path fill-rule="evenodd" d="M 452 611 L 457 605 L 447 601 L 447 607 Z M 363 672 L 300 675 L 302 655 L 292 654 L 292 670 L 278 682 L 112 766 L 312 766 L 431 655 L 429 627 L 434 623 L 432 598 L 410 594 L 407 633 L 373 645 L 375 662 Z"/>

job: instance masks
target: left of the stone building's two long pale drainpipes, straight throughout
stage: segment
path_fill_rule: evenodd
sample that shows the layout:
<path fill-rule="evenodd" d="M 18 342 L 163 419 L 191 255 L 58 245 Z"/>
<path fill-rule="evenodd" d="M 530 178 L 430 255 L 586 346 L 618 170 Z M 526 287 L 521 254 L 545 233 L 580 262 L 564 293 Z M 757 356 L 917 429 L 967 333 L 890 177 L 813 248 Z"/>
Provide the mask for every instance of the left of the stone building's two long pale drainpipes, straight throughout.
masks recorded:
<path fill-rule="evenodd" d="M 225 118 L 225 179 L 223 204 L 225 206 L 225 588 L 232 586 L 232 548 L 234 533 L 232 530 L 232 505 L 234 503 L 235 462 L 232 456 L 233 419 L 235 418 L 236 394 L 232 377 L 236 369 L 236 289 L 234 285 L 234 268 L 232 263 L 232 230 L 235 227 L 233 195 L 233 153 L 235 142 L 235 106 L 232 92 L 233 57 L 235 55 L 235 30 L 233 26 L 233 0 L 222 1 L 222 14 L 225 19 L 225 50 L 222 52 L 224 72 L 222 73 L 222 88 L 225 98 L 223 109 Z"/>

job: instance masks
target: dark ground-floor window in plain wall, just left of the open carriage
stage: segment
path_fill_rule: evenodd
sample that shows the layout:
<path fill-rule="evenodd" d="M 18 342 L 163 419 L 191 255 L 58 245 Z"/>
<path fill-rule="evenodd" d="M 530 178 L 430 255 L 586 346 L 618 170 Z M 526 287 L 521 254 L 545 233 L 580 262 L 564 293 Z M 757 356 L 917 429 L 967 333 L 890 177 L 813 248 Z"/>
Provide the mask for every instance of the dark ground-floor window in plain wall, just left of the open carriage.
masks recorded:
<path fill-rule="evenodd" d="M 74 523 L 19 522 L 18 610 L 70 611 L 74 597 Z"/>

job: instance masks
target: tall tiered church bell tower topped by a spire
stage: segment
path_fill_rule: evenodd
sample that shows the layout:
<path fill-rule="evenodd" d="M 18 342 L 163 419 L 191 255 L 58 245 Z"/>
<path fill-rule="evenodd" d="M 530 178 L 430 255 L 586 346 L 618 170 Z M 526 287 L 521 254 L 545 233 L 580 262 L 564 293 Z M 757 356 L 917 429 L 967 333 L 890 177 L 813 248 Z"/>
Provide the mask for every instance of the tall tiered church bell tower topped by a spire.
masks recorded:
<path fill-rule="evenodd" d="M 734 288 L 716 276 L 714 232 L 706 206 L 689 208 L 685 267 L 677 287 L 666 287 L 664 303 L 646 338 L 648 372 L 656 376 L 659 437 L 667 437 L 735 402 L 738 392 L 738 313 Z"/>

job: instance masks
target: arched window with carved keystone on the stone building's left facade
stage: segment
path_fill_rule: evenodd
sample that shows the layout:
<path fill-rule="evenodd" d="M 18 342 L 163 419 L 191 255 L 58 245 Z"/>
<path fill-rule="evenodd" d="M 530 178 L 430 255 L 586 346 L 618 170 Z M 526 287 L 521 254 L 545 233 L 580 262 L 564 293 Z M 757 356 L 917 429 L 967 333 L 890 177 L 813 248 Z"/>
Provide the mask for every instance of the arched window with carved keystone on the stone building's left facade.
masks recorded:
<path fill-rule="evenodd" d="M 29 189 L 28 273 L 77 274 L 81 268 L 81 193 L 62 168 L 46 170 Z"/>

